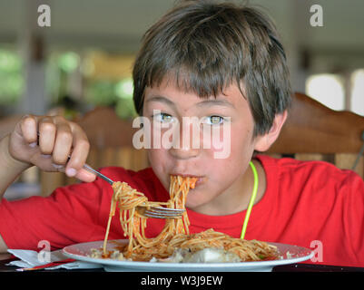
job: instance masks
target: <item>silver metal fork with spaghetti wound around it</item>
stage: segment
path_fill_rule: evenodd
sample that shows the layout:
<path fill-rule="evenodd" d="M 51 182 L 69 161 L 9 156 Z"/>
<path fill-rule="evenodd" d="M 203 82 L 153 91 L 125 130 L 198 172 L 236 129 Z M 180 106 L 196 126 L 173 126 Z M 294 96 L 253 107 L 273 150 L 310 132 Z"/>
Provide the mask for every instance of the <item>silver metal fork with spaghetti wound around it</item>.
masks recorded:
<path fill-rule="evenodd" d="M 93 169 L 91 166 L 84 164 L 84 169 L 96 174 L 100 179 L 105 180 L 113 185 L 113 180 L 104 176 L 103 173 Z M 162 208 L 162 207 L 143 207 L 137 206 L 136 210 L 140 215 L 146 218 L 182 218 L 184 209 L 182 208 Z"/>

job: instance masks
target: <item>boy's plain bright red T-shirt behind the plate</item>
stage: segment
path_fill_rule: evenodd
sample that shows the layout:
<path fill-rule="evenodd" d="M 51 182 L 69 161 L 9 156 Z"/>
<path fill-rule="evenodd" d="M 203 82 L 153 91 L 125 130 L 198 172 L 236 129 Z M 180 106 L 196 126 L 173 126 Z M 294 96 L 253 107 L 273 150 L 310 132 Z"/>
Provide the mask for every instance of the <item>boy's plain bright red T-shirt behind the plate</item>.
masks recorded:
<path fill-rule="evenodd" d="M 364 266 L 364 182 L 350 170 L 322 161 L 257 158 L 266 172 L 267 189 L 252 208 L 245 238 L 279 242 L 315 250 L 308 262 Z M 163 201 L 168 192 L 152 169 L 105 168 L 113 180 L 127 182 L 149 200 Z M 48 240 L 53 249 L 103 240 L 113 190 L 102 179 L 56 189 L 48 198 L 32 197 L 0 203 L 0 234 L 9 248 L 38 249 Z M 212 217 L 187 209 L 190 231 L 213 228 L 240 237 L 245 211 Z M 155 237 L 162 219 L 148 219 L 146 236 Z M 123 238 L 119 215 L 110 239 Z"/>

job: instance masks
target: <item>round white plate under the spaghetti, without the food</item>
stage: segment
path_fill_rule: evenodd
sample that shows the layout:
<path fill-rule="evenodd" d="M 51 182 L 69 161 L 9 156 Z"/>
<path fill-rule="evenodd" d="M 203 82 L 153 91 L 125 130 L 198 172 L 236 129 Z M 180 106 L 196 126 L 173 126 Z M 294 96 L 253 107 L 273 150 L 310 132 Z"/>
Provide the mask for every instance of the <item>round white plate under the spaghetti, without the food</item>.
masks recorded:
<path fill-rule="evenodd" d="M 107 249 L 112 250 L 120 243 L 127 240 L 108 241 Z M 287 265 L 306 261 L 313 256 L 313 252 L 305 247 L 290 246 L 286 244 L 270 243 L 278 247 L 281 258 L 270 261 L 241 262 L 241 263 L 158 263 L 158 262 L 133 262 L 117 261 L 113 259 L 92 258 L 92 248 L 102 248 L 103 241 L 75 244 L 64 247 L 65 256 L 89 263 L 103 265 L 105 271 L 117 272 L 251 272 L 251 271 L 271 271 L 273 266 Z"/>

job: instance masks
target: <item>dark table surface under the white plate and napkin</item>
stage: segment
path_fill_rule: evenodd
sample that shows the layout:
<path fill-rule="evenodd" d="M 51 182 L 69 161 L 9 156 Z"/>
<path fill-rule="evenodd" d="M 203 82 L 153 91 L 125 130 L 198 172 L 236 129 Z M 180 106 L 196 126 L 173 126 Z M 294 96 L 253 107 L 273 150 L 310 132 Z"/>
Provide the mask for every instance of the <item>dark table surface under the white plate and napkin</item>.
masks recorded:
<path fill-rule="evenodd" d="M 7 254 L 6 254 L 7 255 Z M 3 258 L 3 259 L 2 259 Z M 0 272 L 16 272 L 17 266 L 6 266 L 10 261 L 16 258 L 9 257 L 8 255 L 0 256 Z M 44 271 L 44 270 L 38 270 Z M 80 270 L 66 270 L 57 269 L 52 272 L 103 272 L 102 268 L 96 269 L 80 269 Z M 330 265 L 310 265 L 310 264 L 291 264 L 273 267 L 273 272 L 364 272 L 364 267 L 351 267 L 351 266 L 330 266 Z"/>

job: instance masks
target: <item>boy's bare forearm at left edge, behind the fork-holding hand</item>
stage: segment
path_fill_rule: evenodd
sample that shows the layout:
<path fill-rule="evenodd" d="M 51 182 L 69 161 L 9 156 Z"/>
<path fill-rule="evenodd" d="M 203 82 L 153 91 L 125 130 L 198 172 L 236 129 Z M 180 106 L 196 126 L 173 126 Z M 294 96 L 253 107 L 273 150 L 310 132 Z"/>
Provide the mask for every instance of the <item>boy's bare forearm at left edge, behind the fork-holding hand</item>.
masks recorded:
<path fill-rule="evenodd" d="M 15 160 L 9 153 L 9 135 L 0 140 L 0 200 L 5 190 L 25 170 L 29 164 Z"/>

